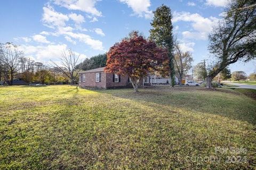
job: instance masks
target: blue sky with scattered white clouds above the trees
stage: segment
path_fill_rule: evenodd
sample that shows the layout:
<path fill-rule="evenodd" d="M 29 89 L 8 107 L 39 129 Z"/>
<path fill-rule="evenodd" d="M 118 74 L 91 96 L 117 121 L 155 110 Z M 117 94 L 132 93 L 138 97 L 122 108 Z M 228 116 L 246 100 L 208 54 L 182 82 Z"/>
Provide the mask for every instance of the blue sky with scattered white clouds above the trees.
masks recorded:
<path fill-rule="evenodd" d="M 207 34 L 218 23 L 227 0 L 23 0 L 1 1 L 0 42 L 21 45 L 25 55 L 47 64 L 63 50 L 81 54 L 81 61 L 106 52 L 132 30 L 149 36 L 158 6 L 173 13 L 174 34 L 190 50 L 193 65 L 209 59 Z M 210 60 L 209 60 L 210 61 Z M 235 63 L 231 71 L 256 71 L 256 62 Z"/>

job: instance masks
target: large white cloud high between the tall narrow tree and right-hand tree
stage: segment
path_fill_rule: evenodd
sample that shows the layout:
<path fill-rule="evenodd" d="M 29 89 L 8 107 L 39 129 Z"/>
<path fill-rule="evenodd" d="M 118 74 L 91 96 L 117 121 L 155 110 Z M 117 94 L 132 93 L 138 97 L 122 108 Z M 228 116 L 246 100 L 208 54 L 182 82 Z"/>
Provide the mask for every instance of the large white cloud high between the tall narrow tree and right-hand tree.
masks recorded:
<path fill-rule="evenodd" d="M 191 26 L 194 30 L 182 32 L 184 38 L 206 40 L 212 28 L 218 24 L 219 19 L 212 16 L 210 16 L 210 18 L 204 18 L 197 13 L 191 14 L 189 12 L 174 12 L 172 21 L 191 22 Z"/>

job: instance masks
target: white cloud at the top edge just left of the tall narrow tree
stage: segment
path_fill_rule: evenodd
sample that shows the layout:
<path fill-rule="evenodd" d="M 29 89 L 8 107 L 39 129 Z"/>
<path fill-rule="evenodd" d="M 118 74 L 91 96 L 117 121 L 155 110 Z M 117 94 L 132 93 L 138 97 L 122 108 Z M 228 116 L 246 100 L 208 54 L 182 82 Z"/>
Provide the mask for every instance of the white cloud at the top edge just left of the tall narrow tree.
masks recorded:
<path fill-rule="evenodd" d="M 149 11 L 150 0 L 119 0 L 132 8 L 135 15 L 145 17 L 146 19 L 153 18 L 153 12 Z"/>

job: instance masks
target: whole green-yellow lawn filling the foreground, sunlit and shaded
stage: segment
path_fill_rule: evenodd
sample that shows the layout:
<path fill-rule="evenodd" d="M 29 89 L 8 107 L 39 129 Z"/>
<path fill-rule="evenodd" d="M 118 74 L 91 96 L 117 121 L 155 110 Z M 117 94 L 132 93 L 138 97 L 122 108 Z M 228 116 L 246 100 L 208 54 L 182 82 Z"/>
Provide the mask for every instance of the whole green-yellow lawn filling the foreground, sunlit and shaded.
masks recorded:
<path fill-rule="evenodd" d="M 13 86 L 0 106 L 0 169 L 256 168 L 256 100 L 232 89 Z"/>

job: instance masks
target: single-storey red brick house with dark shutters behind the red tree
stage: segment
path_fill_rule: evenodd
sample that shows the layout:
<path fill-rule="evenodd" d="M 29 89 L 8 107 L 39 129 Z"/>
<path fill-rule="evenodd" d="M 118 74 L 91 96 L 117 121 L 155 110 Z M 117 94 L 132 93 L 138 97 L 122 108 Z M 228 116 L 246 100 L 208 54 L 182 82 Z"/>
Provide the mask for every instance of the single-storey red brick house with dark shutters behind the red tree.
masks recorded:
<path fill-rule="evenodd" d="M 132 83 L 127 75 L 117 75 L 113 73 L 106 73 L 105 67 L 97 69 L 86 70 L 79 72 L 79 87 L 82 88 L 126 88 L 132 87 Z M 150 86 L 151 77 L 145 77 L 140 81 L 140 86 Z"/>

